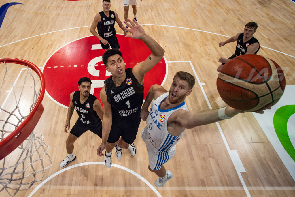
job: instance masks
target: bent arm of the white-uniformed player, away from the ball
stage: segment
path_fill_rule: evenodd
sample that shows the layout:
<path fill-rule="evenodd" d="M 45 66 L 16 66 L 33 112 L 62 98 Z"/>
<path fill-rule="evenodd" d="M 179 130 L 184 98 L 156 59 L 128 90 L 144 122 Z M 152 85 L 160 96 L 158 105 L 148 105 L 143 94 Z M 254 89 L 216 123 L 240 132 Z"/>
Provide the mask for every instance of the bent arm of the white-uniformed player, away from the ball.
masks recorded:
<path fill-rule="evenodd" d="M 147 121 L 149 110 L 148 107 L 150 106 L 153 99 L 157 99 L 160 95 L 168 92 L 165 90 L 162 86 L 158 84 L 154 84 L 150 87 L 150 90 L 148 91 L 148 95 L 145 98 L 145 102 L 142 105 L 141 111 L 140 111 L 140 118 L 143 121 Z"/>

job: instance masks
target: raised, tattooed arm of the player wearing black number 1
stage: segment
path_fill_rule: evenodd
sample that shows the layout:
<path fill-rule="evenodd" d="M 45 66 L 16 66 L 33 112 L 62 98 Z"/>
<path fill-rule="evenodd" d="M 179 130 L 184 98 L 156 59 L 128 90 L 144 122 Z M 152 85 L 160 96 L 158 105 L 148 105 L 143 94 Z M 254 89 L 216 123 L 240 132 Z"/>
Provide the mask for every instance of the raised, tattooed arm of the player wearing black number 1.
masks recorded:
<path fill-rule="evenodd" d="M 139 25 L 135 19 L 133 19 L 133 21 L 128 19 L 128 22 L 129 23 L 124 21 L 124 23 L 130 28 L 122 27 L 131 33 L 131 35 L 128 34 L 126 37 L 142 40 L 142 42 L 144 42 L 152 52 L 152 54 L 150 54 L 145 61 L 136 64 L 132 70 L 132 73 L 138 82 L 143 84 L 145 73 L 158 64 L 158 62 L 163 58 L 165 51 L 153 38 L 145 33 L 142 26 Z"/>

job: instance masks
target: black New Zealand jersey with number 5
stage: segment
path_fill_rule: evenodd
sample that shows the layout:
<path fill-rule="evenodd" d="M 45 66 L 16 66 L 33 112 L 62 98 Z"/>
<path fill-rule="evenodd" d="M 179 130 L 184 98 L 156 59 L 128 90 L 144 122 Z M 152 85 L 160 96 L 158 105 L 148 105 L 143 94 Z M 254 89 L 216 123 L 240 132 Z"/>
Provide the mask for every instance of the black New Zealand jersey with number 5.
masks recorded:
<path fill-rule="evenodd" d="M 79 115 L 77 122 L 83 123 L 87 127 L 95 127 L 101 123 L 96 111 L 93 110 L 94 101 L 97 98 L 89 94 L 89 97 L 84 103 L 80 103 L 80 91 L 76 91 L 73 95 L 73 105 Z"/>

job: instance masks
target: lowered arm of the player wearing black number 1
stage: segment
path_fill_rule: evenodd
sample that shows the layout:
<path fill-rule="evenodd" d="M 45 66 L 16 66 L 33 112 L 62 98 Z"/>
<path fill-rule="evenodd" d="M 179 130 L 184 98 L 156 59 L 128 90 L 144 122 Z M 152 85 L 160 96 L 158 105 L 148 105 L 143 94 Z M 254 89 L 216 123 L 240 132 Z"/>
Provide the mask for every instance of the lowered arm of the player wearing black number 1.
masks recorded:
<path fill-rule="evenodd" d="M 101 157 L 104 156 L 102 152 L 106 148 L 106 142 L 108 141 L 109 133 L 112 127 L 112 106 L 107 100 L 106 90 L 104 87 L 100 91 L 100 99 L 104 105 L 104 120 L 102 121 L 102 138 L 101 144 L 97 149 L 97 155 Z"/>

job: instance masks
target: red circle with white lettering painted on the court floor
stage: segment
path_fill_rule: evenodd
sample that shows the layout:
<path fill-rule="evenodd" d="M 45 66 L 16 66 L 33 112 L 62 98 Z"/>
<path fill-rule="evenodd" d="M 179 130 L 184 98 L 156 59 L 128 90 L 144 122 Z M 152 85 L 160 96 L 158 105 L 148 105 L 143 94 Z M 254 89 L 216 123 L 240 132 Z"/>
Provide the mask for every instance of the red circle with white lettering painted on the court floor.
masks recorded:
<path fill-rule="evenodd" d="M 117 39 L 125 69 L 133 68 L 151 53 L 139 39 L 125 38 L 123 35 L 117 35 Z M 74 40 L 55 51 L 42 68 L 46 94 L 58 104 L 68 107 L 69 95 L 78 90 L 78 80 L 82 77 L 89 77 L 92 82 L 90 94 L 100 100 L 99 92 L 104 87 L 104 80 L 112 75 L 106 71 L 102 62 L 104 52 L 99 39 L 94 36 Z M 153 69 L 145 74 L 144 98 L 153 84 L 163 83 L 167 72 L 165 59 L 162 58 Z M 126 79 L 126 84 L 131 83 L 130 78 Z"/>

